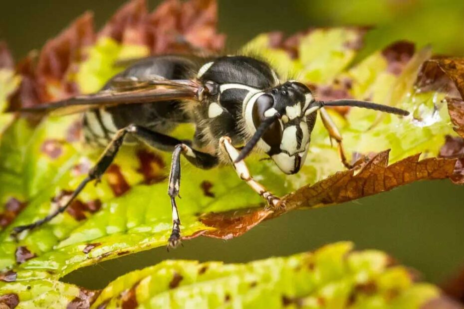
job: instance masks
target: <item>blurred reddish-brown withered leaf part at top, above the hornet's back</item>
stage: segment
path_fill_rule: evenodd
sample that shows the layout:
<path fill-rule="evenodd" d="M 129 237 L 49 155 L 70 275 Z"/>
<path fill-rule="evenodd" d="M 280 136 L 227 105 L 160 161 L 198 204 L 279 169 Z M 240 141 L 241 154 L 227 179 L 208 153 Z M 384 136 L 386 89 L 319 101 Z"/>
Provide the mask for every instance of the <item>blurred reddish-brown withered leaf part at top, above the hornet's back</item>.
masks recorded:
<path fill-rule="evenodd" d="M 215 0 L 168 0 L 148 13 L 145 0 L 120 8 L 99 32 L 122 44 L 146 45 L 152 54 L 223 49 L 225 36 L 216 33 Z"/>

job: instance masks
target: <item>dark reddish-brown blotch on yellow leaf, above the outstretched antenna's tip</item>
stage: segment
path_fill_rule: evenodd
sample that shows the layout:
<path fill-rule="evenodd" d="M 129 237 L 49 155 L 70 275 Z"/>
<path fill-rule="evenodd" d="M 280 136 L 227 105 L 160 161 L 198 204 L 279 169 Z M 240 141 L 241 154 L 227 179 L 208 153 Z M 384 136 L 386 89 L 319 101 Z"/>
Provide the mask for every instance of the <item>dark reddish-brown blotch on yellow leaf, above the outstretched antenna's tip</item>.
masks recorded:
<path fill-rule="evenodd" d="M 414 43 L 407 41 L 398 41 L 387 46 L 382 51 L 382 55 L 387 60 L 387 72 L 400 75 L 413 57 L 414 52 Z"/>

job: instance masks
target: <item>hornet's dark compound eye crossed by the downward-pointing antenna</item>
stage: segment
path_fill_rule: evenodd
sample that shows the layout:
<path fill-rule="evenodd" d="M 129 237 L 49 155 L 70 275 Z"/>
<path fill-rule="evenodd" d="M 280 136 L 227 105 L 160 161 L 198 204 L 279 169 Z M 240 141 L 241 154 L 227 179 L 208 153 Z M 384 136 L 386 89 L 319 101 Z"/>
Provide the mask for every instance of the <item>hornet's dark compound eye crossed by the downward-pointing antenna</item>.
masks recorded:
<path fill-rule="evenodd" d="M 266 118 L 264 113 L 272 109 L 274 105 L 274 98 L 268 94 L 263 94 L 257 98 L 253 105 L 253 125 L 258 128 L 261 122 Z M 270 116 L 270 115 L 268 115 Z M 262 140 L 270 146 L 272 150 L 278 151 L 280 143 L 282 142 L 282 128 L 280 121 L 275 120 L 266 133 L 263 135 Z"/>

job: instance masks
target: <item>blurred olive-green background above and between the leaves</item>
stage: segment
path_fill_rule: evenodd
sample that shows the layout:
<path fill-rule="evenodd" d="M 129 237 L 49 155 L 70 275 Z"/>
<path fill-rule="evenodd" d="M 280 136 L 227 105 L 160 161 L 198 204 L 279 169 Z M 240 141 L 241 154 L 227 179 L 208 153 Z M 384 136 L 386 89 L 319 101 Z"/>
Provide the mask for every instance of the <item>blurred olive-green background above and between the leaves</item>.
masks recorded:
<path fill-rule="evenodd" d="M 0 39 L 16 58 L 40 48 L 85 10 L 101 26 L 124 0 L 2 1 Z M 153 8 L 159 1 L 149 1 Z M 219 0 L 219 29 L 228 49 L 256 34 L 292 33 L 310 26 L 373 25 L 360 57 L 398 39 L 432 44 L 441 54 L 464 55 L 463 0 Z M 136 205 L 134 205 L 136 207 Z M 199 238 L 166 252 L 157 248 L 78 270 L 64 278 L 101 288 L 128 271 L 164 259 L 244 262 L 289 255 L 352 240 L 357 248 L 385 250 L 440 283 L 464 267 L 464 188 L 428 181 L 342 205 L 294 211 L 264 222 L 231 241 Z"/>

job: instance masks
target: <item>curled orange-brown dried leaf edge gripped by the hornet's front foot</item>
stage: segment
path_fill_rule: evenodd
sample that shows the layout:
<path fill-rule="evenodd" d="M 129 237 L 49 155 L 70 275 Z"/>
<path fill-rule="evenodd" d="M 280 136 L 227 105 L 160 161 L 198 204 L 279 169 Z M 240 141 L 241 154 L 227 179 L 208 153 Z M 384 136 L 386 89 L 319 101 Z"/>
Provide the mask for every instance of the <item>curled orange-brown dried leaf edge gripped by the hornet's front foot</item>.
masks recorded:
<path fill-rule="evenodd" d="M 464 181 L 464 175 L 455 171 L 457 159 L 419 160 L 420 154 L 416 154 L 388 165 L 388 154 L 389 151 L 381 152 L 353 169 L 338 172 L 285 195 L 282 200 L 286 207 L 276 212 L 259 208 L 205 215 L 202 222 L 217 230 L 208 231 L 204 235 L 230 239 L 242 235 L 264 219 L 280 216 L 293 209 L 347 202 L 418 180 L 450 178 L 455 182 Z"/>

